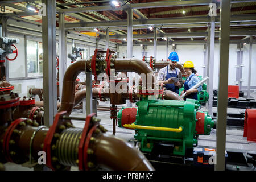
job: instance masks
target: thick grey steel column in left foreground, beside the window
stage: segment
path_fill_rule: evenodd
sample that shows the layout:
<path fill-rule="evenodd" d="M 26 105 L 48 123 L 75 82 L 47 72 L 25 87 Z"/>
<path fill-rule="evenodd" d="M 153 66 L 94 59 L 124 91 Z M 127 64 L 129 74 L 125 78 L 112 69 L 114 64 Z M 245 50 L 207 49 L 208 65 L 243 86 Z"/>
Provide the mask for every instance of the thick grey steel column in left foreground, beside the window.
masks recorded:
<path fill-rule="evenodd" d="M 43 0 L 46 16 L 42 17 L 43 31 L 43 89 L 44 89 L 44 125 L 53 124 L 57 113 L 56 81 L 56 1 Z"/>

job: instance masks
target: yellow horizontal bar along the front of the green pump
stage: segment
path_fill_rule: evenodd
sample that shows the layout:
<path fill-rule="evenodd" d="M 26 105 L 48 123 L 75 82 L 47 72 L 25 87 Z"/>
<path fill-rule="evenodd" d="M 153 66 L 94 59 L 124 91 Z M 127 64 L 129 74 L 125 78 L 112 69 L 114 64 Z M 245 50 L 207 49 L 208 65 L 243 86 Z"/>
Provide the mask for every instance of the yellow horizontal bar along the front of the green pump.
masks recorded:
<path fill-rule="evenodd" d="M 123 127 L 126 127 L 128 129 L 143 129 L 143 130 L 158 130 L 158 131 L 171 131 L 171 132 L 176 132 L 180 133 L 183 129 L 180 126 L 178 129 L 170 128 L 170 127 L 156 127 L 156 126 L 142 126 L 142 125 L 128 125 L 125 124 Z"/>

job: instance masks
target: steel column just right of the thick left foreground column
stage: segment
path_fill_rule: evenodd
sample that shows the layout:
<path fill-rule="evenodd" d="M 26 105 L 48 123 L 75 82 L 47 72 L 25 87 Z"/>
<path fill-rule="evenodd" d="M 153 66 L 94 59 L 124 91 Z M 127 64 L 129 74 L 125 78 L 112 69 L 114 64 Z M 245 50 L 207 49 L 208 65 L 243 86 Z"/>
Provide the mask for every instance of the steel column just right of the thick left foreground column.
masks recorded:
<path fill-rule="evenodd" d="M 67 70 L 67 34 L 64 23 L 65 14 L 59 13 L 59 92 L 62 98 L 63 78 Z"/>

